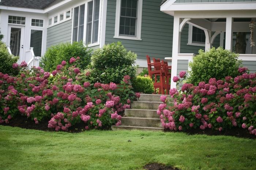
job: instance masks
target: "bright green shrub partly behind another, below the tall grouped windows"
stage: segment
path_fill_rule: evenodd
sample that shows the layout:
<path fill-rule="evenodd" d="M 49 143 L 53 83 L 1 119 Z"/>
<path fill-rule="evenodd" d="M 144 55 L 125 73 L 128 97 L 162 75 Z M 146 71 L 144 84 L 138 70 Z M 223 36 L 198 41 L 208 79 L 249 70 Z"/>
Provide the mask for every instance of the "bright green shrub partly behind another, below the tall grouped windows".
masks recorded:
<path fill-rule="evenodd" d="M 48 48 L 41 60 L 41 67 L 45 71 L 53 71 L 61 61 L 69 61 L 72 57 L 80 57 L 81 68 L 85 69 L 90 63 L 91 50 L 84 47 L 83 42 L 60 43 Z"/>

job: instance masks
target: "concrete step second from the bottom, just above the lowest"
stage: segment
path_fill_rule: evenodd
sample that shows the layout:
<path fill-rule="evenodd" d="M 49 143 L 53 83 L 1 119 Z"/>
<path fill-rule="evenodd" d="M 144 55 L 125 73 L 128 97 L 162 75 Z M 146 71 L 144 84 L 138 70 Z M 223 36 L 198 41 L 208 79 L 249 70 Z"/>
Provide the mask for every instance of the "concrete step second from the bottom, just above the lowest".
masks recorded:
<path fill-rule="evenodd" d="M 162 127 L 160 119 L 122 117 L 122 126 Z"/>

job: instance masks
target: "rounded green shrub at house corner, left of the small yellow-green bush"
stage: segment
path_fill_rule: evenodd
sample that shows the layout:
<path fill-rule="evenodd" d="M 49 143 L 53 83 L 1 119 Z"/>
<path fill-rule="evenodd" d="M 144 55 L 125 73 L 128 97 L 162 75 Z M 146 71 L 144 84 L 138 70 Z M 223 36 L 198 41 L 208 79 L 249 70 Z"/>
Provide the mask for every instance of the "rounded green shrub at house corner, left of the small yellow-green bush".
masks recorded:
<path fill-rule="evenodd" d="M 94 51 L 91 57 L 91 74 L 95 81 L 120 83 L 125 75 L 135 78 L 137 55 L 127 51 L 120 43 L 112 43 Z"/>

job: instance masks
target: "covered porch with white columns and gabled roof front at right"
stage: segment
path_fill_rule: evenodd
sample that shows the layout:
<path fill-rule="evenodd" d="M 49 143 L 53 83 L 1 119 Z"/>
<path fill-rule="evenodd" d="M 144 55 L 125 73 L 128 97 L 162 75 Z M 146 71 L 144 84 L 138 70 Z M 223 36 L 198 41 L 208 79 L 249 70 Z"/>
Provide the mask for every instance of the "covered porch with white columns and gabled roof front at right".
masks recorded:
<path fill-rule="evenodd" d="M 204 39 L 204 50 L 209 50 L 215 39 L 219 36 L 219 46 L 234 51 L 236 44 L 236 32 L 255 32 L 249 27 L 250 21 L 256 18 L 255 0 L 163 0 L 161 11 L 174 17 L 173 20 L 173 44 L 172 44 L 172 78 L 179 73 L 180 63 L 192 60 L 193 54 L 184 54 L 181 50 L 182 32 L 185 24 L 189 24 L 189 33 L 192 32 L 193 40 Z M 198 30 L 203 31 L 198 31 Z M 185 30 L 186 31 L 186 30 Z M 191 38 L 191 37 L 189 37 Z M 251 37 L 256 41 L 256 33 Z M 239 55 L 242 64 L 252 72 L 256 71 L 256 46 L 245 37 L 246 50 Z M 251 45 L 251 46 L 250 46 Z M 188 68 L 189 69 L 189 68 Z M 176 83 L 171 83 L 171 88 Z"/>

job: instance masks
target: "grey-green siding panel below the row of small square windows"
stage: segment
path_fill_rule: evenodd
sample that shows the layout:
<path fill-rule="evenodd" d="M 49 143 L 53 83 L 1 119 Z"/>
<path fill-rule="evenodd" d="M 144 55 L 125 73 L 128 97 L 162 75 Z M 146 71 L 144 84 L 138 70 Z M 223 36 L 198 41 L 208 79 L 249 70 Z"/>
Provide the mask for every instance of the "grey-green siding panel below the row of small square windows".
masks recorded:
<path fill-rule="evenodd" d="M 71 42 L 72 20 L 65 21 L 47 29 L 46 48 L 58 43 Z"/>

